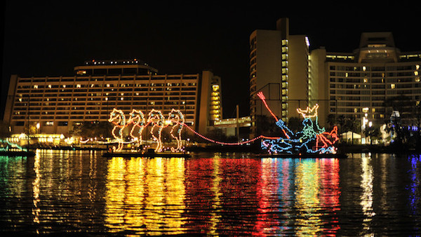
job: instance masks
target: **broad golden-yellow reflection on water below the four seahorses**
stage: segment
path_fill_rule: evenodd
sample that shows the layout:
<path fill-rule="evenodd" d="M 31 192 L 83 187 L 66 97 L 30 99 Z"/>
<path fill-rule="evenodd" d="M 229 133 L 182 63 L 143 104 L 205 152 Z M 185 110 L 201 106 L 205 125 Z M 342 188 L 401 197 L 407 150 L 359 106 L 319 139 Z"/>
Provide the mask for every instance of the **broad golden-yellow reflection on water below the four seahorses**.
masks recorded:
<path fill-rule="evenodd" d="M 110 159 L 105 194 L 110 231 L 183 233 L 184 164 L 182 158 Z"/>

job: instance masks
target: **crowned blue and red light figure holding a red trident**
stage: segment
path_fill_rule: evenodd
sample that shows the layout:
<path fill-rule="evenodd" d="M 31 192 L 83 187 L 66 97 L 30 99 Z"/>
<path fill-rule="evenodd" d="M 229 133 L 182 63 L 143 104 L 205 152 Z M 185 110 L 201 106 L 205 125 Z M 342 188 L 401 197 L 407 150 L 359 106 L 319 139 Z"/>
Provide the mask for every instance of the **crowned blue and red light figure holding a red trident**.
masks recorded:
<path fill-rule="evenodd" d="M 301 114 L 304 120 L 302 121 L 302 130 L 293 133 L 292 130 L 286 126 L 285 122 L 276 118 L 274 113 L 270 110 L 265 101 L 265 96 L 262 92 L 258 96 L 265 104 L 270 114 L 276 119 L 276 126 L 282 129 L 285 138 L 279 137 L 276 139 L 263 139 L 261 147 L 269 153 L 279 154 L 334 154 L 336 148 L 333 146 L 339 140 L 338 127 L 335 126 L 329 133 L 325 128 L 320 128 L 318 123 L 317 109 L 319 104 L 307 109 L 297 109 L 298 114 Z M 312 121 L 314 118 L 314 122 Z"/>

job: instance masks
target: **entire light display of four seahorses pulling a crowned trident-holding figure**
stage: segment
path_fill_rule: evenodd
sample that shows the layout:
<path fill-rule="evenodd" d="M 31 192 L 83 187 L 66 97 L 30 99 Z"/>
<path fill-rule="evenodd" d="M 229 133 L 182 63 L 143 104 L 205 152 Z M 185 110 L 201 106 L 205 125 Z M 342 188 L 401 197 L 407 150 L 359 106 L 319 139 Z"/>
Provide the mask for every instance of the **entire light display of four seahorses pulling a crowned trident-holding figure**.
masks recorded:
<path fill-rule="evenodd" d="M 298 153 L 312 153 L 312 154 L 327 154 L 335 153 L 336 149 L 333 146 L 335 142 L 339 140 L 338 138 L 338 128 L 335 126 L 332 131 L 326 132 L 324 128 L 320 128 L 318 124 L 317 109 L 319 105 L 315 105 L 312 108 L 307 107 L 307 109 L 297 109 L 298 114 L 301 114 L 304 120 L 302 121 L 302 130 L 297 133 L 293 133 L 286 123 L 282 120 L 279 120 L 276 115 L 269 109 L 265 96 L 262 92 L 258 93 L 258 97 L 262 100 L 263 104 L 267 110 L 272 114 L 276 120 L 276 126 L 281 128 L 283 132 L 283 137 L 267 137 L 265 135 L 260 135 L 251 140 L 246 140 L 243 142 L 220 142 L 212 140 L 200 133 L 197 133 L 192 128 L 189 128 L 185 124 L 185 116 L 179 109 L 172 109 L 168 113 L 166 118 L 162 111 L 152 109 L 147 118 L 142 113 L 133 109 L 126 120 L 123 111 L 120 109 L 113 109 L 109 116 L 109 122 L 114 124 L 112 129 L 112 135 L 114 139 L 118 142 L 117 147 L 113 147 L 113 151 L 121 151 L 125 143 L 137 142 L 140 146 L 142 144 L 142 132 L 147 126 L 152 126 L 149 133 L 151 133 L 154 141 L 156 141 L 156 152 L 163 151 L 163 142 L 161 140 L 162 131 L 165 128 L 170 127 L 170 135 L 176 141 L 176 146 L 171 147 L 171 151 L 181 151 L 182 150 L 182 139 L 181 132 L 183 128 L 188 128 L 195 135 L 213 142 L 216 144 L 222 145 L 241 145 L 249 144 L 255 142 L 255 140 L 262 139 L 262 149 L 266 150 L 270 154 L 298 154 Z M 314 119 L 314 121 L 313 121 Z M 123 131 L 130 129 L 129 135 L 132 142 L 125 142 L 123 139 Z"/>

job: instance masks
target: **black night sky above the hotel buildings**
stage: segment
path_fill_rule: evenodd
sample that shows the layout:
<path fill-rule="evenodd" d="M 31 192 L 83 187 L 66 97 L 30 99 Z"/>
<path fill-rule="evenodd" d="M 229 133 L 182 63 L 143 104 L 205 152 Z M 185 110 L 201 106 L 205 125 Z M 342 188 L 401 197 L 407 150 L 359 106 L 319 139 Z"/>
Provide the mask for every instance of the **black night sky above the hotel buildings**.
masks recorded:
<path fill-rule="evenodd" d="M 63 4 L 63 2 L 65 2 Z M 8 80 L 72 76 L 85 60 L 143 60 L 160 73 L 222 78 L 224 117 L 248 114 L 248 37 L 290 18 L 312 48 L 352 52 L 361 32 L 390 31 L 403 51 L 421 50 L 419 4 L 403 1 L 6 1 L 1 118 Z M 255 2 L 259 2 L 256 4 Z M 7 91 L 7 90 L 6 90 Z"/>

